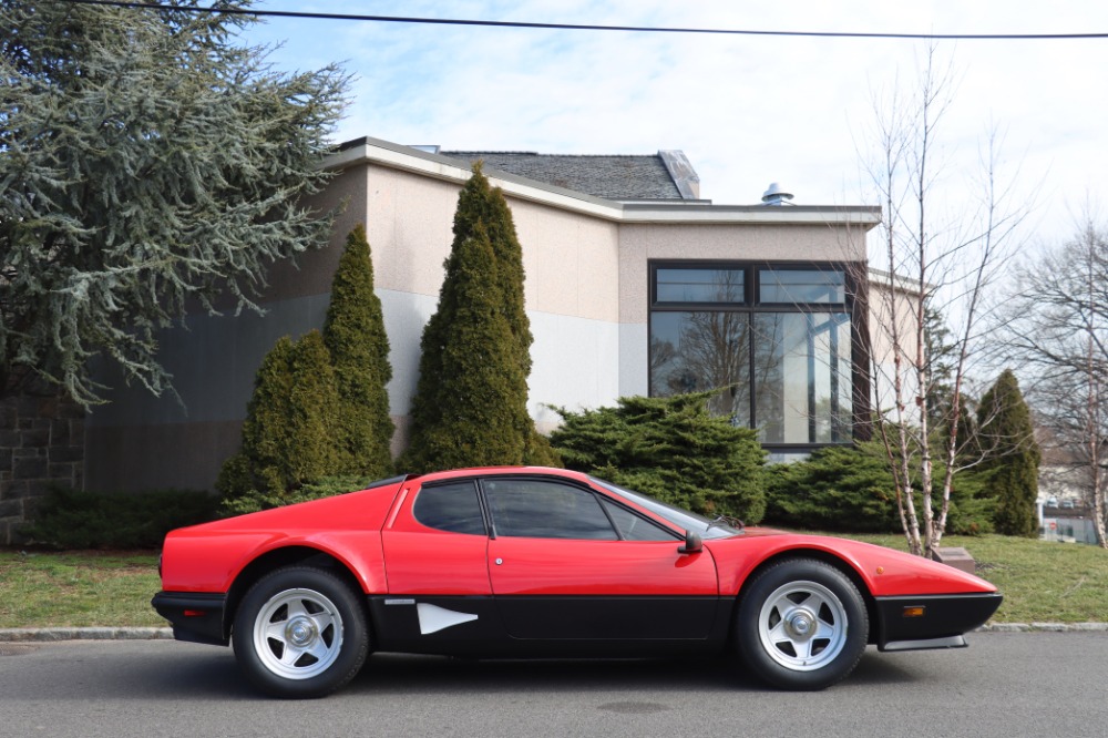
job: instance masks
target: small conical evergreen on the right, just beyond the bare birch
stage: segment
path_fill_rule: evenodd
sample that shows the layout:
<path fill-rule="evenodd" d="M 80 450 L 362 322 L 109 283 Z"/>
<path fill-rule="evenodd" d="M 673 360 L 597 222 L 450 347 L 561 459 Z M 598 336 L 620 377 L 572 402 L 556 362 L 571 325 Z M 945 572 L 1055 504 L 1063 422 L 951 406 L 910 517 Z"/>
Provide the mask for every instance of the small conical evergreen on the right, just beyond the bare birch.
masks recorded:
<path fill-rule="evenodd" d="M 977 427 L 984 451 L 982 473 L 988 480 L 986 489 L 996 499 L 993 522 L 997 533 L 1036 535 L 1035 500 L 1042 457 L 1030 410 L 1010 369 L 1005 369 L 981 399 Z"/>

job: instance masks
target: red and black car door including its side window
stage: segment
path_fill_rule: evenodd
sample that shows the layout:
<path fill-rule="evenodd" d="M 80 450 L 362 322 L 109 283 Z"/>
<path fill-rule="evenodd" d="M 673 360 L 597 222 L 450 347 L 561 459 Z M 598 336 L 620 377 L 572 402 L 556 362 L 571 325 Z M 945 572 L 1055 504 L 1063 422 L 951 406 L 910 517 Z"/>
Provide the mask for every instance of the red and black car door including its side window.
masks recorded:
<path fill-rule="evenodd" d="M 563 480 L 494 476 L 481 488 L 493 596 L 513 637 L 708 636 L 719 590 L 707 550 L 679 553 L 673 532 Z"/>

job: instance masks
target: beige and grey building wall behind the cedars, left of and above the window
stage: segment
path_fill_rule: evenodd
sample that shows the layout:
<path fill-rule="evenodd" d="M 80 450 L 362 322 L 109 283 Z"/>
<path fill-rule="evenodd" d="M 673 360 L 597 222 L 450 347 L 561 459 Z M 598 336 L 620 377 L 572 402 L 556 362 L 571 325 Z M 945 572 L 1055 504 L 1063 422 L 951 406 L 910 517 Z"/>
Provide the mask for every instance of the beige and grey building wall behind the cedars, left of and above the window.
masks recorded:
<path fill-rule="evenodd" d="M 367 227 L 390 340 L 393 449 L 406 443 L 420 338 L 437 308 L 465 171 L 391 144 L 369 150 L 371 155 L 347 151 L 345 168 L 310 201 L 320 209 L 342 208 L 330 245 L 270 269 L 258 300 L 264 316 L 196 314 L 187 328 L 164 332 L 164 363 L 183 406 L 104 377 L 117 389 L 112 404 L 86 422 L 90 489 L 211 488 L 237 450 L 265 353 L 283 335 L 296 338 L 322 326 L 331 278 L 357 223 Z M 847 238 L 848 229 L 819 219 L 819 208 L 797 208 L 793 217 L 784 209 L 659 206 L 657 217 L 689 222 L 644 222 L 655 217 L 650 207 L 625 213 L 607 201 L 489 174 L 507 195 L 523 247 L 534 335 L 529 410 L 542 430 L 557 420 L 547 404 L 597 407 L 647 391 L 650 259 L 864 258 L 864 228 Z M 696 222 L 706 215 L 725 222 Z"/>

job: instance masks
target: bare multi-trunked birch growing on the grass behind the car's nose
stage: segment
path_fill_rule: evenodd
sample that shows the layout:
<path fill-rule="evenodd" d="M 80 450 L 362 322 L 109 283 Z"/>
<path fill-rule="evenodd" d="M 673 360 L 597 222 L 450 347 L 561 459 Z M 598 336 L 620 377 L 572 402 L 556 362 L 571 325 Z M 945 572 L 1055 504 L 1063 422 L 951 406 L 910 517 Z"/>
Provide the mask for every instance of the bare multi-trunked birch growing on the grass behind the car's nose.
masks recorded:
<path fill-rule="evenodd" d="M 881 256 L 873 259 L 880 276 L 871 280 L 870 296 L 875 435 L 896 483 L 909 549 L 927 556 L 942 540 L 953 478 L 965 465 L 960 451 L 968 439 L 958 418 L 979 347 L 984 298 L 1025 214 L 1008 207 L 1010 191 L 998 183 L 995 133 L 982 146 L 976 175 L 965 183 L 971 195 L 950 215 L 940 204 L 945 167 L 938 132 L 954 82 L 953 65 L 942 65 L 936 49 L 929 48 L 913 98 L 894 93 L 875 103 L 879 155 L 869 166 L 884 212 Z M 936 357 L 927 352 L 931 312 L 950 326 L 952 350 L 943 357 L 950 387 L 941 412 L 929 407 L 938 401 Z"/>

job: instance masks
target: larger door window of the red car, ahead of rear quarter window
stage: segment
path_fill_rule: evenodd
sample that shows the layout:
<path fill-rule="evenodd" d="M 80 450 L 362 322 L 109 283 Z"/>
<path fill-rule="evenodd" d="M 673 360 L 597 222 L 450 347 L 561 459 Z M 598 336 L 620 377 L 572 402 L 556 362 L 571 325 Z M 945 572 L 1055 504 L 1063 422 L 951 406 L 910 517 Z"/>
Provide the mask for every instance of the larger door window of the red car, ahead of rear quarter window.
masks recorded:
<path fill-rule="evenodd" d="M 596 496 L 557 482 L 492 479 L 482 482 L 496 535 L 616 541 Z"/>

